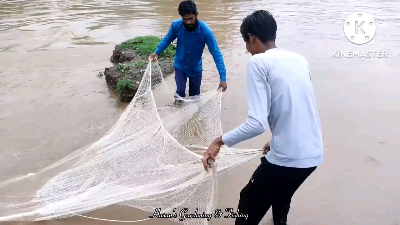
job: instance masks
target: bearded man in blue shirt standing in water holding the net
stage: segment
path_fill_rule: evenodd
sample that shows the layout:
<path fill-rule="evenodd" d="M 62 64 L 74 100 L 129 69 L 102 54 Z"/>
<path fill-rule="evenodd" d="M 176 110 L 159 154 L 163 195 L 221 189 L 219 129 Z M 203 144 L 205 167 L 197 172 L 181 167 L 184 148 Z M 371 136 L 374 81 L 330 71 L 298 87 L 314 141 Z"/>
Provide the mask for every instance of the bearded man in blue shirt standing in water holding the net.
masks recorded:
<path fill-rule="evenodd" d="M 158 44 L 149 60 L 157 59 L 161 52 L 178 38 L 174 61 L 176 93 L 185 97 L 186 81 L 189 78 L 189 96 L 195 96 L 200 94 L 203 71 L 202 54 L 204 46 L 207 44 L 220 75 L 221 82 L 218 89 L 222 88 L 222 91 L 225 91 L 227 88 L 226 70 L 214 34 L 205 22 L 197 19 L 194 1 L 181 2 L 178 12 L 182 19 L 172 21 L 168 34 Z"/>

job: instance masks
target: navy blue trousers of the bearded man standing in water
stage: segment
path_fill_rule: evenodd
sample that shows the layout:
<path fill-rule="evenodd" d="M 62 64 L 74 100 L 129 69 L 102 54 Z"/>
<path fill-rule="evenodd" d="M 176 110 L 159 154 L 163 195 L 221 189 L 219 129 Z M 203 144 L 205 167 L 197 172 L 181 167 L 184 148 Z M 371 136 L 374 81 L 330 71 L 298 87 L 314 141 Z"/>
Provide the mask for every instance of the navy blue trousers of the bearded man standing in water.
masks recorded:
<path fill-rule="evenodd" d="M 186 76 L 186 73 L 175 68 L 176 93 L 182 98 L 186 96 L 186 82 L 189 78 L 189 96 L 200 94 L 202 72 L 196 76 Z"/>

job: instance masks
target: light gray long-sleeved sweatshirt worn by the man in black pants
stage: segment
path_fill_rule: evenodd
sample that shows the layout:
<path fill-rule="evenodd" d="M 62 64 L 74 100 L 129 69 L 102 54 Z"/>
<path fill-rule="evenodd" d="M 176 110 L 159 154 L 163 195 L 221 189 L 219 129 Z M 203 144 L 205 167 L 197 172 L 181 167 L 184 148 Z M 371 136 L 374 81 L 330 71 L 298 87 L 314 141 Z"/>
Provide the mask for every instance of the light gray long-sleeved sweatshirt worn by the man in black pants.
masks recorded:
<path fill-rule="evenodd" d="M 247 98 L 248 118 L 222 136 L 225 145 L 261 135 L 269 126 L 270 163 L 298 168 L 323 163 L 320 119 L 303 56 L 282 48 L 252 56 L 247 64 Z"/>

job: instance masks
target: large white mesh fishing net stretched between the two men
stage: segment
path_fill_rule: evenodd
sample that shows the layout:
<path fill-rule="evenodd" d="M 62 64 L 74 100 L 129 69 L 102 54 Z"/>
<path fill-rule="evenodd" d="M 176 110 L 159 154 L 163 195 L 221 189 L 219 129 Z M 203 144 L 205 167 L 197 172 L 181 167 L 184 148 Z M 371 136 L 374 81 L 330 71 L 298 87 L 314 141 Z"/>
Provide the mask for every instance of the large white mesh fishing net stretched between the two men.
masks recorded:
<path fill-rule="evenodd" d="M 86 217 L 120 204 L 149 215 L 155 209 L 178 213 L 171 219 L 185 225 L 207 224 L 206 218 L 180 220 L 179 212 L 214 213 L 216 175 L 260 151 L 223 146 L 207 173 L 201 159 L 222 135 L 222 92 L 181 98 L 168 87 L 157 62 L 148 63 L 138 85 L 120 119 L 96 143 L 36 173 L 1 182 L 0 221 Z"/>

